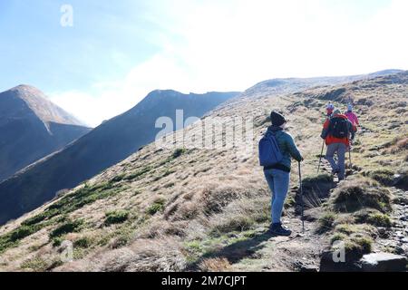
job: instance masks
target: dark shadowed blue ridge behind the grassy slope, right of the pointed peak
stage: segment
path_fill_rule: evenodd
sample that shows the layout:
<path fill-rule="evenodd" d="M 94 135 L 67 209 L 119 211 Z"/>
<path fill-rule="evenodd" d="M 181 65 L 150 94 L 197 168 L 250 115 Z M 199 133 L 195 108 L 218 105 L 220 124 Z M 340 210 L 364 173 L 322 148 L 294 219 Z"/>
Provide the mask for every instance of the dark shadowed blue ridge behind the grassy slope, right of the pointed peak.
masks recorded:
<path fill-rule="evenodd" d="M 151 143 L 161 131 L 155 128 L 161 116 L 169 117 L 174 123 L 176 110 L 183 110 L 185 118 L 201 117 L 237 94 L 151 92 L 130 111 L 102 123 L 65 149 L 0 183 L 0 224 L 42 206 L 58 191 L 74 188 Z"/>

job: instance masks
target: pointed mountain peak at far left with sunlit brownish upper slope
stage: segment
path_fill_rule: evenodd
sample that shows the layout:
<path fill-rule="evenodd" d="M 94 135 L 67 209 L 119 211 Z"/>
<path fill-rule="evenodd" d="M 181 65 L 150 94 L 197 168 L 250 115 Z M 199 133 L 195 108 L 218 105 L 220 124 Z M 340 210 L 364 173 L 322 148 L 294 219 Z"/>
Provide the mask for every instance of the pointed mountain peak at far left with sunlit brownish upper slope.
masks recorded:
<path fill-rule="evenodd" d="M 0 181 L 90 131 L 38 89 L 0 93 Z"/>

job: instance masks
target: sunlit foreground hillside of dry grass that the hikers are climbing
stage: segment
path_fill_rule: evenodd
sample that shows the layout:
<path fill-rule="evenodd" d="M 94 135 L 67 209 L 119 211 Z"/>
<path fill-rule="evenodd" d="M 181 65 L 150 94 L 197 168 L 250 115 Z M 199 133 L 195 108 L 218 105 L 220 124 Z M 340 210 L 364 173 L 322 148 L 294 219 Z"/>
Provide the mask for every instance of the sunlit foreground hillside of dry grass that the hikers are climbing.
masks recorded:
<path fill-rule="evenodd" d="M 316 176 L 319 135 L 325 104 L 344 108 L 350 99 L 362 128 L 353 169 L 336 185 L 326 164 Z M 228 117 L 252 117 L 252 152 L 146 146 L 1 227 L 0 269 L 316 271 L 330 266 L 325 253 L 338 240 L 345 242 L 347 269 L 369 252 L 408 256 L 403 239 L 408 228 L 407 102 L 408 72 L 303 92 L 277 92 L 273 86 L 248 90 L 206 119 L 227 118 L 227 128 L 240 131 L 242 124 Z M 304 235 L 267 234 L 270 194 L 256 145 L 272 109 L 287 116 L 288 130 L 306 158 Z M 169 145 L 199 138 L 202 128 L 196 123 L 181 132 L 171 135 Z M 301 233 L 297 164 L 291 181 L 284 222 Z M 66 260 L 70 249 L 73 259 Z"/>

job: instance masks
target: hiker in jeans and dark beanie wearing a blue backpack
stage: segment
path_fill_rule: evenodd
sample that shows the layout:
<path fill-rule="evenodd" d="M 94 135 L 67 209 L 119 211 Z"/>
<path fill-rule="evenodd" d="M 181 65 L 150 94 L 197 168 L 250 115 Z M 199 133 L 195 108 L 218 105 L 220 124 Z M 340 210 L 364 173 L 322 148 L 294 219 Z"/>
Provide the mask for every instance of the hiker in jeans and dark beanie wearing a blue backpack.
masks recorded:
<path fill-rule="evenodd" d="M 303 157 L 292 136 L 285 131 L 287 121 L 284 116 L 272 111 L 272 126 L 259 141 L 259 160 L 264 167 L 265 178 L 272 192 L 272 224 L 269 227 L 275 236 L 290 236 L 291 231 L 282 226 L 282 211 L 289 190 L 291 159 L 299 162 Z"/>

